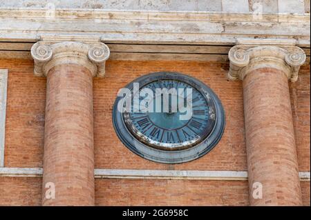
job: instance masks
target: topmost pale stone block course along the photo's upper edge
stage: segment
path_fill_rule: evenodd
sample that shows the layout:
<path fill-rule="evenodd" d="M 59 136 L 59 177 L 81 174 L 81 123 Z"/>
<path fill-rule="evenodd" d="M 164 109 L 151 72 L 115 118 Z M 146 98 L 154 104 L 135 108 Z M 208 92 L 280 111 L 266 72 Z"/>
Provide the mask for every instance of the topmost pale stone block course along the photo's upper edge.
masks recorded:
<path fill-rule="evenodd" d="M 0 1 L 1 2 L 1 1 Z M 158 10 L 158 11 L 209 11 L 209 12 L 264 12 L 308 13 L 309 0 L 178 0 L 178 1 L 39 1 L 13 0 L 1 2 L 3 7 L 14 8 L 93 8 L 109 10 Z"/>

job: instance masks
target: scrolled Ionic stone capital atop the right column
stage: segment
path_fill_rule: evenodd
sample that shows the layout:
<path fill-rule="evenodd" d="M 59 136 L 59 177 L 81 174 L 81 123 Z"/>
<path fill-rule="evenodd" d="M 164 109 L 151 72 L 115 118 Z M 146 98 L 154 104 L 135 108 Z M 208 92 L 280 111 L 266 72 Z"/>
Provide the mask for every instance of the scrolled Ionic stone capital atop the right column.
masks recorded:
<path fill-rule="evenodd" d="M 230 68 L 227 77 L 231 80 L 243 80 L 252 70 L 270 67 L 282 70 L 294 82 L 306 59 L 305 52 L 292 40 L 238 39 L 236 44 L 228 54 Z"/>

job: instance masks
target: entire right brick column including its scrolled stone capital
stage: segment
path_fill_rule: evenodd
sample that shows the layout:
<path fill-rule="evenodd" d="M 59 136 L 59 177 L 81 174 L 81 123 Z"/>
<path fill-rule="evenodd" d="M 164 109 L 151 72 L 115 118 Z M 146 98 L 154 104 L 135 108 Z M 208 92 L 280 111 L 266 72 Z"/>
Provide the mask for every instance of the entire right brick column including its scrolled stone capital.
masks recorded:
<path fill-rule="evenodd" d="M 241 40 L 229 60 L 229 79 L 243 80 L 249 203 L 301 206 L 288 79 L 305 54 L 292 41 Z"/>

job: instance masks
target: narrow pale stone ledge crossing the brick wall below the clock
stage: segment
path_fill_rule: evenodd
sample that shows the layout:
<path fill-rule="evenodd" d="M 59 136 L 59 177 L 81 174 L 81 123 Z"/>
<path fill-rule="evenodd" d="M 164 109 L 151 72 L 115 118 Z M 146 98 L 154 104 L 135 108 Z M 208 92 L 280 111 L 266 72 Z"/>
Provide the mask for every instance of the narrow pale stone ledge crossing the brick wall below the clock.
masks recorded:
<path fill-rule="evenodd" d="M 43 168 L 0 168 L 0 177 L 42 177 Z M 96 179 L 189 179 L 247 180 L 247 171 L 226 170 L 122 170 L 95 169 Z M 299 172 L 301 181 L 310 181 L 310 172 Z"/>

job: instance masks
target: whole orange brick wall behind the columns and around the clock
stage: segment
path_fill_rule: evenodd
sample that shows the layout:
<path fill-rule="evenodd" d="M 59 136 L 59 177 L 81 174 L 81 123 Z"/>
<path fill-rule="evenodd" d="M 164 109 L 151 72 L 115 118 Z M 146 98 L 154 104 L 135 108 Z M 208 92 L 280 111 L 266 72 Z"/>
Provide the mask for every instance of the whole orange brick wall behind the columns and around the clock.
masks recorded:
<path fill-rule="evenodd" d="M 95 168 L 247 170 L 242 83 L 227 81 L 225 77 L 227 65 L 193 61 L 108 61 L 106 67 L 106 77 L 93 80 Z M 5 166 L 42 167 L 46 79 L 33 76 L 31 60 L 1 59 L 0 68 L 9 70 Z M 225 133 L 214 150 L 204 157 L 180 165 L 164 165 L 138 157 L 117 139 L 111 121 L 117 90 L 142 74 L 158 71 L 177 71 L 196 77 L 214 90 L 222 101 L 227 122 Z M 310 172 L 309 71 L 308 66 L 303 67 L 299 81 L 290 83 L 299 170 L 305 172 Z M 41 200 L 40 184 L 40 178 L 1 177 L 0 204 L 37 205 Z M 147 197 L 144 201 L 154 205 L 158 201 L 156 198 L 164 199 L 167 195 L 175 198 L 175 200 L 169 199 L 167 204 L 174 204 L 176 198 L 182 198 L 180 204 L 184 205 L 191 202 L 193 205 L 203 205 L 203 203 L 205 205 L 216 203 L 247 205 L 248 197 L 245 181 L 222 181 L 219 184 L 218 181 L 97 179 L 95 185 L 97 205 L 125 204 L 126 200 L 122 200 L 125 189 L 131 191 L 131 194 L 128 194 L 130 199 L 127 201 L 138 204 L 141 200 L 139 191 L 135 191 L 136 186 L 141 189 L 148 188 L 144 192 L 152 197 L 149 198 L 150 201 Z M 167 189 L 163 192 L 162 189 L 165 187 Z M 183 192 L 178 187 L 189 190 Z M 207 193 L 199 193 L 200 188 L 204 188 Z M 301 188 L 304 204 L 310 205 L 310 182 L 301 182 Z M 30 196 L 24 201 L 20 199 L 17 201 L 18 195 L 13 195 L 11 192 L 17 192 L 15 194 L 21 192 L 20 197 L 25 194 Z M 233 199 L 231 192 L 238 193 L 236 200 Z M 194 199 L 191 200 L 191 197 Z"/>

